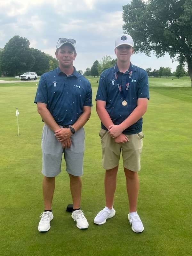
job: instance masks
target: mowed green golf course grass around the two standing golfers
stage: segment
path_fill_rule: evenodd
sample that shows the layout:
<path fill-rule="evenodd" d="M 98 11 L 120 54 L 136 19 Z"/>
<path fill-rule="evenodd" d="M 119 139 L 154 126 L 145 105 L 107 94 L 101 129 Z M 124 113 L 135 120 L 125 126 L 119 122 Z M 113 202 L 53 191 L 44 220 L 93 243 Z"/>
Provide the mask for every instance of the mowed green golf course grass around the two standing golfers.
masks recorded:
<path fill-rule="evenodd" d="M 192 88 L 189 79 L 150 78 L 150 100 L 143 117 L 143 153 L 138 213 L 145 230 L 132 231 L 122 160 L 114 208 L 116 215 L 97 226 L 93 219 L 105 206 L 101 166 L 100 121 L 95 111 L 97 78 L 90 77 L 92 116 L 85 125 L 86 150 L 81 208 L 87 230 L 76 228 L 66 212 L 72 203 L 63 161 L 56 178 L 51 229 L 37 230 L 44 211 L 41 174 L 43 122 L 33 103 L 36 83 L 0 84 L 1 225 L 0 255 L 5 256 L 182 256 L 192 243 Z M 178 80 L 178 81 L 177 81 Z M 18 108 L 20 136 L 17 136 Z M 74 159 L 75 161 L 75 159 Z"/>

